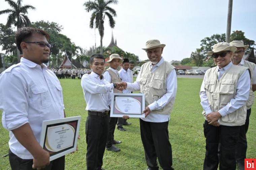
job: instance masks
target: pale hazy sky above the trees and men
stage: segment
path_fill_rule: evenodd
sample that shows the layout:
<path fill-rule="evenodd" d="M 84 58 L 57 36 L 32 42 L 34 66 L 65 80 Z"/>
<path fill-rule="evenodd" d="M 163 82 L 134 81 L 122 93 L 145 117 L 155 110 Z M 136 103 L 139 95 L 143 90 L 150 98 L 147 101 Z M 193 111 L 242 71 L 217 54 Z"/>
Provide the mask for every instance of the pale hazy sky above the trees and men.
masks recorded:
<path fill-rule="evenodd" d="M 31 22 L 57 22 L 63 26 L 62 34 L 77 46 L 89 49 L 95 45 L 95 32 L 89 28 L 91 12 L 86 12 L 85 2 L 23 0 L 22 5 L 36 7 L 28 11 Z M 113 31 L 117 45 L 140 60 L 148 59 L 141 48 L 151 39 L 166 44 L 162 56 L 170 62 L 190 57 L 205 37 L 226 33 L 228 0 L 119 0 L 110 6 L 117 12 L 116 26 L 111 29 L 105 18 L 103 46 L 109 45 Z M 0 0 L 0 11 L 7 8 L 8 3 Z M 6 24 L 7 16 L 0 15 L 0 23 Z M 245 32 L 246 38 L 256 41 L 255 0 L 233 0 L 231 33 L 235 30 Z M 99 45 L 96 30 L 96 46 Z"/>

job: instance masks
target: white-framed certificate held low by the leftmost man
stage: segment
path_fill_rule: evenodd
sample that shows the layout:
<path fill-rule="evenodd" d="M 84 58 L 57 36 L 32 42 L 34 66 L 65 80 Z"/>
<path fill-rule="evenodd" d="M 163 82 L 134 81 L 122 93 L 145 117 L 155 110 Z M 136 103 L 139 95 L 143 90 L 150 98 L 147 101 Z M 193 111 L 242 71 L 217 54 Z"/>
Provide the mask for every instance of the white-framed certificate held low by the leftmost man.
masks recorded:
<path fill-rule="evenodd" d="M 76 150 L 80 121 L 81 116 L 43 121 L 40 145 L 50 153 L 50 161 Z"/>

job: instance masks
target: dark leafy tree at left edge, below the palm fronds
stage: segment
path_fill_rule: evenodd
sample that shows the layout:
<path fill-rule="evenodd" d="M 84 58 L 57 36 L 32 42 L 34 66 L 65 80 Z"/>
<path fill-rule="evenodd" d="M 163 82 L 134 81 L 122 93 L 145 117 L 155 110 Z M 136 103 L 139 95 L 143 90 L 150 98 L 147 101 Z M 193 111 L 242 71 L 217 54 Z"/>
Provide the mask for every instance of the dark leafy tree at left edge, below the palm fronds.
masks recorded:
<path fill-rule="evenodd" d="M 0 23 L 0 45 L 2 50 L 5 50 L 5 53 L 9 55 L 16 55 L 17 53 L 14 34 L 10 27 Z"/>

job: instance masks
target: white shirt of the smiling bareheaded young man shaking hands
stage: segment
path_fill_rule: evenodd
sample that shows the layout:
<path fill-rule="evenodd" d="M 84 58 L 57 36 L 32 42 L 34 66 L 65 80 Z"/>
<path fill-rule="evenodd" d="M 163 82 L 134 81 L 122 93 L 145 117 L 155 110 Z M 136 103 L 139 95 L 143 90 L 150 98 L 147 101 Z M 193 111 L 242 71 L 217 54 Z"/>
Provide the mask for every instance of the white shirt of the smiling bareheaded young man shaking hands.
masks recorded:
<path fill-rule="evenodd" d="M 86 101 L 85 110 L 103 112 L 108 111 L 113 96 L 114 84 L 100 79 L 95 72 L 84 74 L 81 80 Z"/>

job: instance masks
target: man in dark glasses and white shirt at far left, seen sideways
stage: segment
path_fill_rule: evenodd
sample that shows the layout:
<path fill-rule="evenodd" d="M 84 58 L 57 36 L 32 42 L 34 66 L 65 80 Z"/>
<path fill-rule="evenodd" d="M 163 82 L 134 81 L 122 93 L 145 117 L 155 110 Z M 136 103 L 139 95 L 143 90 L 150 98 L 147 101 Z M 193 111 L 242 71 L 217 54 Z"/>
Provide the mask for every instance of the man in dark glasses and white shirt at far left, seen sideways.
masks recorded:
<path fill-rule="evenodd" d="M 60 82 L 45 63 L 51 45 L 43 30 L 23 27 L 15 34 L 21 62 L 0 76 L 2 124 L 9 131 L 9 162 L 13 170 L 65 169 L 65 157 L 50 162 L 39 144 L 42 121 L 65 117 Z"/>

